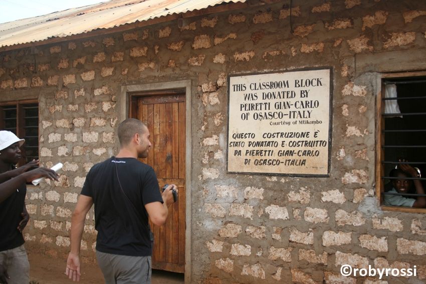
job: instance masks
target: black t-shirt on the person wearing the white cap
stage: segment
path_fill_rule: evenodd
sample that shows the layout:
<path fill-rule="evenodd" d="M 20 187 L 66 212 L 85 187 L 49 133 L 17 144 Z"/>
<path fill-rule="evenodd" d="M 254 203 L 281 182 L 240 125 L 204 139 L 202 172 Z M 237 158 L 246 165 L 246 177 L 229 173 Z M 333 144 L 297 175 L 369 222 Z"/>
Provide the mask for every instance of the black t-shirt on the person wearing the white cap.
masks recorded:
<path fill-rule="evenodd" d="M 0 203 L 0 251 L 24 244 L 24 237 L 18 230 L 24 211 L 27 185 L 21 184 L 5 201 Z"/>

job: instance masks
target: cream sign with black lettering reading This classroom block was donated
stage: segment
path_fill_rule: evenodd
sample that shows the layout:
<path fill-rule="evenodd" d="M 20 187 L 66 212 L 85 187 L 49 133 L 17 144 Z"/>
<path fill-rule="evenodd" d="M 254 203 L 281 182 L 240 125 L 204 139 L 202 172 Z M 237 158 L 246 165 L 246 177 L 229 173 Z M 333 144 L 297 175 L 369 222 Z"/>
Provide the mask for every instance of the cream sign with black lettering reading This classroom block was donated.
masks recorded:
<path fill-rule="evenodd" d="M 229 77 L 228 172 L 328 176 L 331 69 Z"/>

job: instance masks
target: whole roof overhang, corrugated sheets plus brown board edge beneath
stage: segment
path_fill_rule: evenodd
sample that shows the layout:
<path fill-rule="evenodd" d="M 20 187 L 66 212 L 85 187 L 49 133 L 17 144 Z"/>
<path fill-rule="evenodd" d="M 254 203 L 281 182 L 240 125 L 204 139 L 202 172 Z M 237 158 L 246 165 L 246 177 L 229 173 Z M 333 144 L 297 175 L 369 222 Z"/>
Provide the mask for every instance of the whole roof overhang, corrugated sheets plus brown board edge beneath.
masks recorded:
<path fill-rule="evenodd" d="M 0 52 L 124 32 L 277 0 L 111 0 L 0 24 Z"/>

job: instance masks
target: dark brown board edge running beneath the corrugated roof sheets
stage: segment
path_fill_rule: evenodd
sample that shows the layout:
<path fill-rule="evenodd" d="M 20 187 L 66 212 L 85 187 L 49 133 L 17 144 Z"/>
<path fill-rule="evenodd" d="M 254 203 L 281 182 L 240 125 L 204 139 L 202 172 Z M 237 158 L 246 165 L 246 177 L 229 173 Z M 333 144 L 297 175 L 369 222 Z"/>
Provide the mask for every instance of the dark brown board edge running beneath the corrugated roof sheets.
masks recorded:
<path fill-rule="evenodd" d="M 238 1 L 238 0 L 237 0 Z M 262 6 L 262 3 L 259 3 L 259 6 Z M 3 46 L 0 47 L 0 52 L 5 52 L 5 51 L 12 51 L 12 50 L 17 50 L 17 49 L 22 49 L 22 48 L 29 48 L 29 47 L 35 47 L 35 46 L 42 46 L 42 45 L 48 45 L 48 44 L 53 44 L 53 43 L 61 43 L 61 42 L 67 42 L 67 41 L 72 41 L 72 40 L 77 40 L 77 39 L 85 39 L 85 38 L 91 38 L 91 37 L 96 37 L 96 36 L 100 36 L 100 35 L 109 35 L 109 34 L 114 34 L 114 33 L 118 33 L 118 32 L 124 32 L 124 31 L 129 31 L 129 30 L 133 30 L 136 28 L 140 28 L 140 27 L 146 27 L 146 26 L 151 26 L 151 25 L 155 25 L 155 24 L 160 24 L 160 23 L 164 23 L 164 22 L 169 22 L 169 21 L 173 21 L 173 20 L 177 20 L 179 18 L 191 18 L 191 17 L 197 17 L 197 16 L 202 16 L 202 15 L 208 15 L 208 14 L 213 14 L 213 13 L 218 13 L 218 12 L 223 12 L 224 7 L 227 7 L 226 11 L 233 11 L 233 10 L 239 10 L 239 9 L 244 9 L 247 7 L 253 7 L 253 4 L 248 4 L 246 2 L 246 0 L 242 0 L 239 2 L 233 2 L 233 0 L 229 0 L 228 2 L 223 2 L 219 5 L 216 6 L 208 6 L 207 8 L 204 9 L 200 9 L 200 10 L 193 10 L 193 11 L 188 11 L 185 13 L 173 13 L 173 14 L 168 14 L 165 16 L 160 16 L 160 17 L 156 17 L 153 19 L 149 19 L 146 21 L 136 21 L 134 23 L 129 23 L 129 24 L 123 24 L 123 25 L 118 25 L 115 26 L 113 28 L 100 28 L 100 29 L 94 29 L 85 33 L 80 33 L 80 34 L 75 34 L 75 35 L 71 35 L 71 36 L 66 36 L 66 37 L 48 37 L 45 40 L 40 40 L 40 41 L 34 41 L 34 42 L 29 42 L 29 43 L 23 43 L 23 44 L 14 44 L 14 45 L 10 45 L 10 46 Z M 257 5 L 255 5 L 257 6 Z"/>

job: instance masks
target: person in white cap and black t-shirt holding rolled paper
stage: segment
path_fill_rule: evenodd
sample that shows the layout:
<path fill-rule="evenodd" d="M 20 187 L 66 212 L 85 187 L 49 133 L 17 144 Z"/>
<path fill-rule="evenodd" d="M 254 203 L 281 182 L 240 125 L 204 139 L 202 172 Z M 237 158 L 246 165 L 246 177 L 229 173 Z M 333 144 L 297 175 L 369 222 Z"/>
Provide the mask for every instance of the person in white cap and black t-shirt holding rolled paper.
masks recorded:
<path fill-rule="evenodd" d="M 40 177 L 58 180 L 51 169 L 30 170 L 39 165 L 38 160 L 16 168 L 24 142 L 10 131 L 0 131 L 0 283 L 30 281 L 30 263 L 22 235 L 29 219 L 25 208 L 26 183 Z"/>

